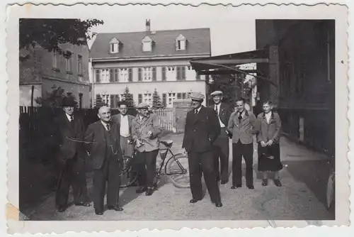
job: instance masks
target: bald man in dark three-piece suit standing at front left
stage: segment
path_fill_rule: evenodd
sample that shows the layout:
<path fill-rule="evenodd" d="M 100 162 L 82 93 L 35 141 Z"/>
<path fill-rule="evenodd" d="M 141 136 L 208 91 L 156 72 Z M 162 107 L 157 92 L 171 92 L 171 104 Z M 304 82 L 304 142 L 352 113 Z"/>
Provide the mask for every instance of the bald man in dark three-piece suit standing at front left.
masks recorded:
<path fill-rule="evenodd" d="M 106 182 L 108 209 L 123 210 L 118 205 L 122 152 L 119 125 L 110 121 L 110 108 L 102 106 L 98 118 L 87 128 L 85 140 L 93 168 L 93 207 L 97 215 L 103 215 Z"/>

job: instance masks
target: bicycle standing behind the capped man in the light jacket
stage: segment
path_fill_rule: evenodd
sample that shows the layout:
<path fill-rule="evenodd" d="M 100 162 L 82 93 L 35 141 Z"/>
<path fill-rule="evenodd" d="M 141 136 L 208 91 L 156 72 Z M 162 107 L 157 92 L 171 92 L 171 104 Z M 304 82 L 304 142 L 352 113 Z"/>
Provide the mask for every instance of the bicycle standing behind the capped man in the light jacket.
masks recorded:
<path fill-rule="evenodd" d="M 173 154 L 171 147 L 173 140 L 160 140 L 160 143 L 166 148 L 160 148 L 159 154 L 161 157 L 161 164 L 156 169 L 156 181 L 154 187 L 157 187 L 157 182 L 162 175 L 167 175 L 173 186 L 179 188 L 189 188 L 189 167 L 188 157 L 183 153 Z M 122 170 L 120 172 L 121 182 L 120 187 L 130 187 L 137 180 L 137 172 L 133 172 L 134 159 L 137 158 L 137 150 L 132 156 L 124 156 L 122 159 Z M 165 161 L 166 165 L 165 165 Z M 162 168 L 164 167 L 164 172 Z"/>

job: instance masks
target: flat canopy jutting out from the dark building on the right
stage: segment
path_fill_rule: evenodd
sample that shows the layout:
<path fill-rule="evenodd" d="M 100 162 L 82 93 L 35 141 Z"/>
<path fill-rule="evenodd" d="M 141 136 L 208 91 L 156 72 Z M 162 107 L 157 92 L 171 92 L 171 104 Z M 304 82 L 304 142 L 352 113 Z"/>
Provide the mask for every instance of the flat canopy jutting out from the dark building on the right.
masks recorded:
<path fill-rule="evenodd" d="M 198 75 L 225 75 L 235 72 L 257 72 L 256 70 L 237 70 L 237 65 L 247 63 L 269 62 L 268 50 L 254 50 L 242 53 L 233 53 L 229 55 L 219 55 L 214 57 L 203 57 L 190 61 L 193 70 Z"/>

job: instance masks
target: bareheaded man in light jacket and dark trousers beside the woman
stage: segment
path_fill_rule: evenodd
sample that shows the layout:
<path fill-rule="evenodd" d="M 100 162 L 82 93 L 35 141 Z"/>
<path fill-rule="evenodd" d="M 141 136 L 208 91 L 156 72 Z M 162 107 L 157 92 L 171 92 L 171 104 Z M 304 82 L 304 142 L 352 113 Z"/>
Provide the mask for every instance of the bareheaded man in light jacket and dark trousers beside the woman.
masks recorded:
<path fill-rule="evenodd" d="M 232 189 L 242 186 L 242 156 L 246 162 L 246 186 L 253 186 L 253 135 L 257 133 L 257 119 L 245 109 L 244 99 L 236 100 L 236 111 L 229 119 L 227 129 L 232 133 Z"/>

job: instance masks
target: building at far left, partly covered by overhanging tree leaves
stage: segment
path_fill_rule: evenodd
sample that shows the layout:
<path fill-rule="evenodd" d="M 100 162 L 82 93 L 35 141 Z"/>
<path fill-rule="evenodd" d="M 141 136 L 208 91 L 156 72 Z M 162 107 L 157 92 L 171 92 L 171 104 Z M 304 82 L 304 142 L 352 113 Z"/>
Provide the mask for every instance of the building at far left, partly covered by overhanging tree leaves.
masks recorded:
<path fill-rule="evenodd" d="M 87 45 L 59 45 L 64 53 L 48 52 L 36 46 L 21 50 L 20 106 L 40 106 L 36 98 L 46 98 L 54 88 L 76 98 L 80 108 L 91 107 L 89 82 L 89 48 Z"/>

